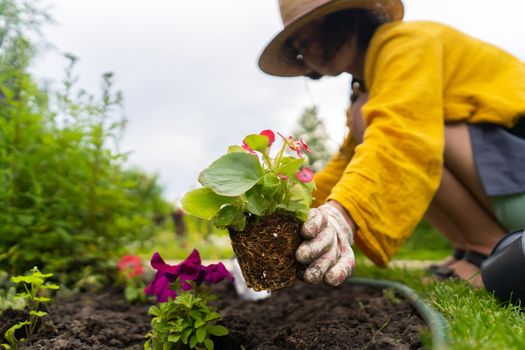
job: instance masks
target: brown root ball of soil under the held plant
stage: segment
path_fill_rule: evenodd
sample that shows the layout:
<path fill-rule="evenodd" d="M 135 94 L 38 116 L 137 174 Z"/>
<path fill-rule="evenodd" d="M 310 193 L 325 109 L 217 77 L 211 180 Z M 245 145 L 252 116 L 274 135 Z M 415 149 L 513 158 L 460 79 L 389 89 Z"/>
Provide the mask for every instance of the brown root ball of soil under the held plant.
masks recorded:
<path fill-rule="evenodd" d="M 264 216 L 259 222 L 248 220 L 242 232 L 230 230 L 233 251 L 248 287 L 277 290 L 302 276 L 304 266 L 295 259 L 303 242 L 301 223 L 289 215 Z"/>

